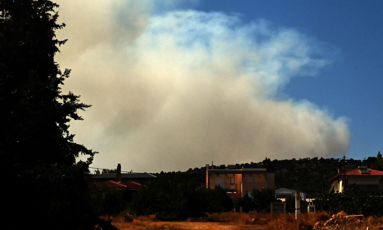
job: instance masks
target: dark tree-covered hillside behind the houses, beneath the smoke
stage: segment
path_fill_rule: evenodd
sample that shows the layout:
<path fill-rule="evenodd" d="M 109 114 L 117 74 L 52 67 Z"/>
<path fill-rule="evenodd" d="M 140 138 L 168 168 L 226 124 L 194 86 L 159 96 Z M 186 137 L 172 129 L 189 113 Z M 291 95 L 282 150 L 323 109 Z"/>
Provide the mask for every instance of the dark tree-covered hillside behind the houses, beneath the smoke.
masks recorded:
<path fill-rule="evenodd" d="M 383 170 L 383 159 L 380 152 L 376 157 L 368 157 L 363 160 L 348 159 L 324 159 L 318 157 L 290 159 L 290 160 L 270 160 L 267 157 L 262 162 L 236 164 L 237 168 L 267 168 L 269 172 L 275 173 L 276 188 L 291 188 L 294 190 L 309 192 L 314 196 L 322 196 L 323 192 L 328 193 L 331 188 L 329 179 L 337 174 L 338 165 L 341 166 L 341 172 L 345 169 L 350 170 L 358 166 L 367 166 L 368 168 Z M 224 169 L 226 165 L 213 165 L 214 169 Z M 206 167 L 189 168 L 186 172 L 161 172 L 155 174 L 159 181 L 166 180 L 172 183 L 192 183 L 195 185 L 205 183 Z"/>

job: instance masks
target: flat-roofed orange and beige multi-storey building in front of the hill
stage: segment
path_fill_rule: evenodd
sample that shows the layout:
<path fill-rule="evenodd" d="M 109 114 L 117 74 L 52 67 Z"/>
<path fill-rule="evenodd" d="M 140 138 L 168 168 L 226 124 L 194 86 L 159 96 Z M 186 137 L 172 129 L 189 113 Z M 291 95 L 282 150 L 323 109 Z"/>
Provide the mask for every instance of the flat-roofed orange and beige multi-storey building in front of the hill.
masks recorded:
<path fill-rule="evenodd" d="M 226 169 L 209 169 L 206 165 L 206 188 L 220 186 L 231 199 L 243 197 L 246 191 L 254 189 L 274 189 L 274 173 L 267 173 L 266 168 L 235 168 L 228 165 Z"/>

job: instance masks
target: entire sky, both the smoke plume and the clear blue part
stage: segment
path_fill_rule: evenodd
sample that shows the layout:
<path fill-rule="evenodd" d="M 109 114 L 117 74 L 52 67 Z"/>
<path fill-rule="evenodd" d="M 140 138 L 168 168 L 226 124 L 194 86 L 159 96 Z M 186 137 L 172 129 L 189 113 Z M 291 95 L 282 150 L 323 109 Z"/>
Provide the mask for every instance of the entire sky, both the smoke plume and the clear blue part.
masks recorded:
<path fill-rule="evenodd" d="M 59 2 L 92 167 L 187 170 L 382 151 L 382 2 Z M 143 163 L 144 162 L 144 163 Z"/>

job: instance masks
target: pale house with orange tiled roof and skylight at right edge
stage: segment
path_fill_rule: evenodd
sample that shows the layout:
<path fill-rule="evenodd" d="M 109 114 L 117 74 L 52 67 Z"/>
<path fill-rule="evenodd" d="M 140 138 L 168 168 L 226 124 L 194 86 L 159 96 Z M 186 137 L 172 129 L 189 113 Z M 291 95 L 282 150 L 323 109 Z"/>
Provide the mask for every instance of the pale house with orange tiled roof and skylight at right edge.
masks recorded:
<path fill-rule="evenodd" d="M 347 187 L 355 184 L 365 191 L 383 195 L 383 172 L 366 166 L 359 166 L 345 173 L 341 173 L 339 168 L 338 175 L 331 178 L 330 181 L 334 181 L 331 190 L 337 193 L 341 193 Z"/>

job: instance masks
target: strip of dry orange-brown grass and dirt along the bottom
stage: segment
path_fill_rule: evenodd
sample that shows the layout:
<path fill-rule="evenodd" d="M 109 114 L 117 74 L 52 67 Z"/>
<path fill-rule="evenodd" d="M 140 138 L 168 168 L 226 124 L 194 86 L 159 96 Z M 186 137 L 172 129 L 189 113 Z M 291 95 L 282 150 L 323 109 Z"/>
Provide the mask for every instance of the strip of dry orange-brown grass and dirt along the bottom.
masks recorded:
<path fill-rule="evenodd" d="M 109 218 L 105 218 L 108 220 Z M 327 223 L 326 223 L 327 222 Z M 346 219 L 344 213 L 330 216 L 326 212 L 302 214 L 300 220 L 295 220 L 293 214 L 233 213 L 208 214 L 207 217 L 187 219 L 185 221 L 164 222 L 154 215 L 139 216 L 133 222 L 124 222 L 123 215 L 112 218 L 111 222 L 121 230 L 128 229 L 209 229 L 209 230 L 305 230 L 305 229 L 360 229 L 378 230 L 383 226 L 382 217 L 367 217 L 362 219 Z"/>

